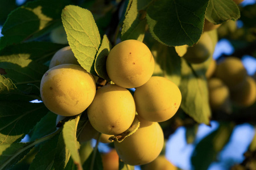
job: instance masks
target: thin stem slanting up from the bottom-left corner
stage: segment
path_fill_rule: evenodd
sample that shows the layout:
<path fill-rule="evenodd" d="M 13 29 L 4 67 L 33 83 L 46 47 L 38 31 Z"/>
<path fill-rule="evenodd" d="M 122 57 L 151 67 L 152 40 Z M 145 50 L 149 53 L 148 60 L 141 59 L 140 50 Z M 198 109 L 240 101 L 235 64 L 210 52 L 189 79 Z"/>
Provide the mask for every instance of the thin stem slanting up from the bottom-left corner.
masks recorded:
<path fill-rule="evenodd" d="M 62 130 L 62 128 L 57 129 L 55 132 L 48 134 L 42 138 L 36 139 L 34 142 L 30 143 L 29 145 L 20 148 L 20 150 L 18 150 L 13 156 L 11 156 L 9 159 L 6 160 L 5 163 L 3 163 L 0 166 L 0 170 L 5 168 L 7 164 L 9 164 L 16 156 L 18 156 L 19 154 L 21 154 L 22 152 L 26 151 L 28 148 L 33 147 L 35 145 L 38 145 L 39 143 L 42 143 L 44 141 L 47 141 L 48 139 L 51 139 L 52 137 L 54 137 L 56 134 L 58 134 L 60 131 Z"/>

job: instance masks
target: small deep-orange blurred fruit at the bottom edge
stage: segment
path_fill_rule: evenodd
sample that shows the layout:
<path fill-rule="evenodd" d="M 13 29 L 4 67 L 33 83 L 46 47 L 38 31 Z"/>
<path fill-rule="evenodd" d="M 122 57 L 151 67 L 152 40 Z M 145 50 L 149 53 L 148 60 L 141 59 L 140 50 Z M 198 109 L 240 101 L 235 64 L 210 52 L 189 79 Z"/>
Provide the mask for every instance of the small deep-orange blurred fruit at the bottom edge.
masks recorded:
<path fill-rule="evenodd" d="M 114 149 L 106 154 L 102 154 L 102 164 L 104 170 L 118 170 L 119 169 L 119 156 Z"/>

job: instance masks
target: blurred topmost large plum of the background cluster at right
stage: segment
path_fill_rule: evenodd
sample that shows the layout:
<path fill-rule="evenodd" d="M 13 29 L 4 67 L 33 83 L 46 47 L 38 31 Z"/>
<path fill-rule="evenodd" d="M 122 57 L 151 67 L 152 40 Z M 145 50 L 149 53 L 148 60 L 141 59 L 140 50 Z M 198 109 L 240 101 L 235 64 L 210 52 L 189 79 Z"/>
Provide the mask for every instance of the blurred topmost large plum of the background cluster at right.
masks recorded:
<path fill-rule="evenodd" d="M 232 90 L 245 81 L 247 71 L 241 59 L 227 57 L 217 65 L 214 76 L 220 78 Z"/>

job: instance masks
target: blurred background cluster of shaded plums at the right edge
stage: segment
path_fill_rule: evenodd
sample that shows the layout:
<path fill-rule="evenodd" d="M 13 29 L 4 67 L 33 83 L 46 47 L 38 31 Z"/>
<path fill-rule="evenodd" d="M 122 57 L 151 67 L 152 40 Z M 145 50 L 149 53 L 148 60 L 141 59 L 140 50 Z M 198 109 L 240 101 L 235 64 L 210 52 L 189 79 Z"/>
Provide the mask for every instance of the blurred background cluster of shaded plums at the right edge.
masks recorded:
<path fill-rule="evenodd" d="M 209 104 L 213 110 L 229 112 L 232 104 L 249 107 L 256 100 L 255 80 L 247 74 L 240 58 L 212 61 L 207 72 Z"/>

